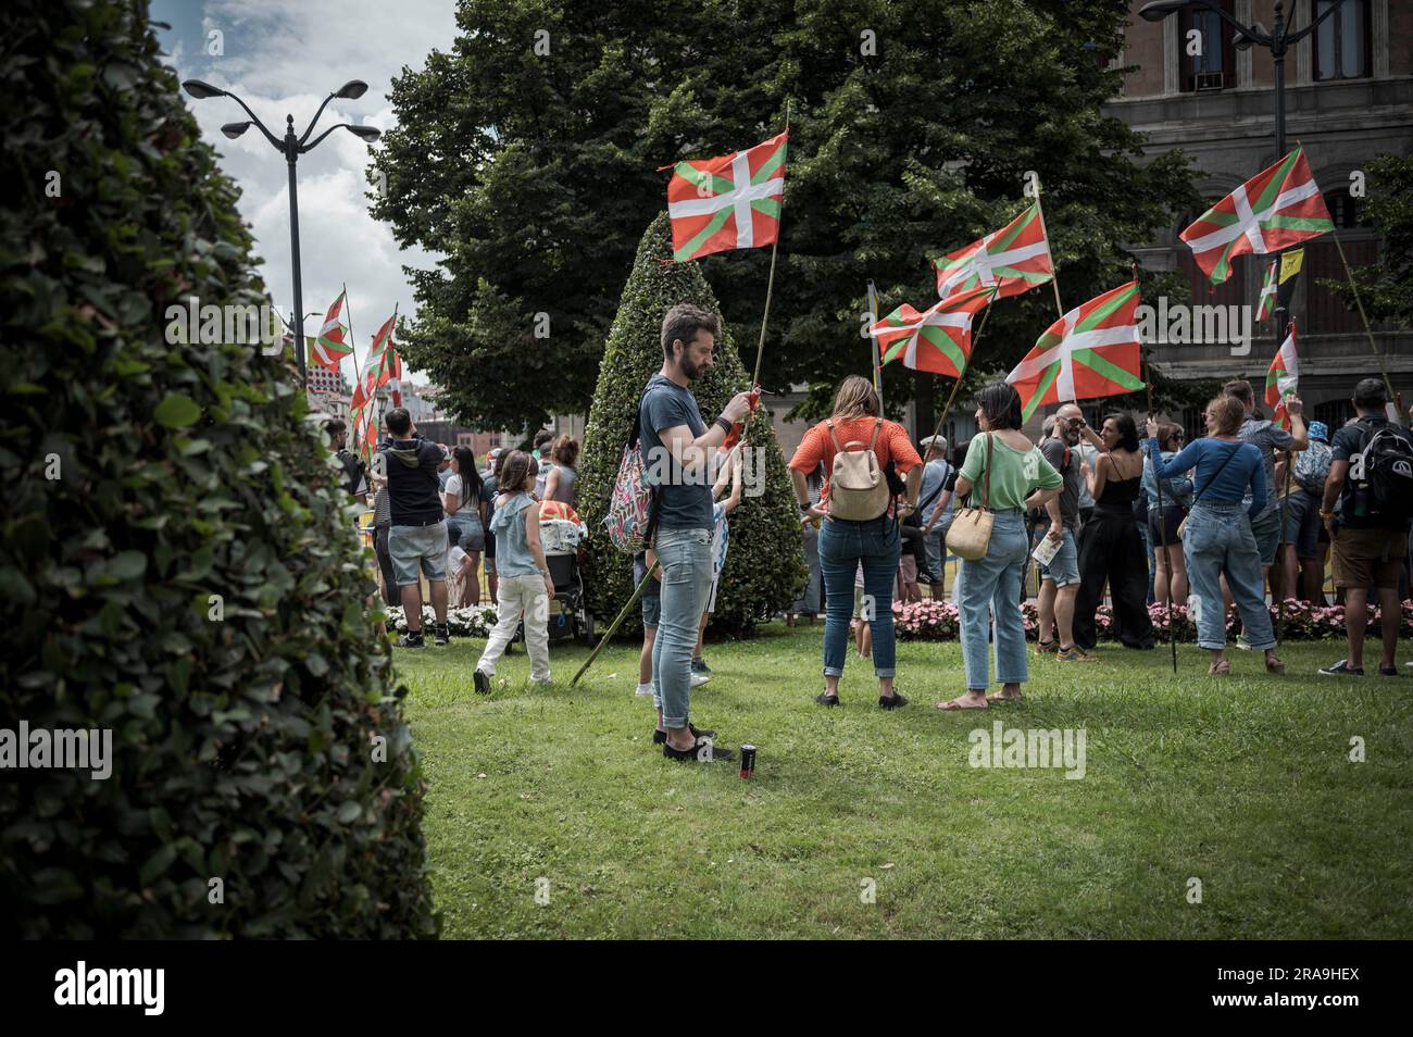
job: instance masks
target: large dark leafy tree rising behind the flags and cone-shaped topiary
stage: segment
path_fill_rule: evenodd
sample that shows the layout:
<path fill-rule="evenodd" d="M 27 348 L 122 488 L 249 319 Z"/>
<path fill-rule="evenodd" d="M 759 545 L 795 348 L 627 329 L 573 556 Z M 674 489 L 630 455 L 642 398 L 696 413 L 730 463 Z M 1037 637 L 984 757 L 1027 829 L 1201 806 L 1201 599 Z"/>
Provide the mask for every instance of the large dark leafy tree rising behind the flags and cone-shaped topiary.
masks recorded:
<path fill-rule="evenodd" d="M 996 229 L 1036 171 L 1065 307 L 1113 287 L 1126 243 L 1197 205 L 1187 161 L 1140 162 L 1102 105 L 1126 0 L 462 0 L 461 37 L 394 82 L 374 212 L 447 259 L 414 273 L 408 362 L 463 418 L 537 425 L 588 398 L 637 229 L 682 157 L 777 133 L 791 100 L 780 270 L 762 381 L 820 397 L 866 372 L 865 281 L 882 305 L 935 298 L 926 263 Z M 537 35 L 538 34 L 538 35 Z M 538 52 L 537 52 L 538 44 Z M 545 52 L 547 49 L 547 52 Z M 766 249 L 699 260 L 745 342 Z M 1186 290 L 1176 278 L 1164 288 Z M 533 336 L 534 315 L 551 336 Z M 986 350 L 1009 367 L 1053 319 L 1007 300 Z M 914 389 L 900 365 L 886 396 Z M 934 389 L 930 376 L 916 384 Z"/>

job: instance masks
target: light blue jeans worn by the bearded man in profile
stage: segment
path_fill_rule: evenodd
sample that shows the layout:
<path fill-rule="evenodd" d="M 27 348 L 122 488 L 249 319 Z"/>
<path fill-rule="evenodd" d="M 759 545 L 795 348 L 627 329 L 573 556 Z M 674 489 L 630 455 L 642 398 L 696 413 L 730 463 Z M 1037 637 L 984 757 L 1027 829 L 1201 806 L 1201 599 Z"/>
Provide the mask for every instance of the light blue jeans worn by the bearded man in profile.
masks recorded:
<path fill-rule="evenodd" d="M 711 586 L 711 533 L 658 530 L 657 561 L 663 567 L 663 589 L 653 641 L 654 699 L 663 711 L 664 728 L 685 728 L 691 715 L 697 623 Z"/>

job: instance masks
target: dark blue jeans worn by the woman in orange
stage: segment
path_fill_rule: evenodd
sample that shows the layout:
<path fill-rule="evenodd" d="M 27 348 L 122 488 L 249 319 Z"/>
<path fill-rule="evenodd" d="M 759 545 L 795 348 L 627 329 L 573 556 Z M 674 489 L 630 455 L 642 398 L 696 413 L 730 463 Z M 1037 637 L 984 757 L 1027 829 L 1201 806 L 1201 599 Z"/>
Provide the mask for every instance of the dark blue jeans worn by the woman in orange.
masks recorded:
<path fill-rule="evenodd" d="M 842 677 L 849 617 L 853 613 L 853 575 L 863 562 L 863 593 L 873 598 L 873 672 L 893 677 L 893 581 L 903 550 L 897 523 L 887 516 L 866 523 L 825 518 L 820 528 L 820 572 L 824 575 L 824 675 Z M 865 608 L 868 600 L 865 600 Z M 869 613 L 865 612 L 868 616 Z M 661 634 L 658 634 L 661 636 Z"/>

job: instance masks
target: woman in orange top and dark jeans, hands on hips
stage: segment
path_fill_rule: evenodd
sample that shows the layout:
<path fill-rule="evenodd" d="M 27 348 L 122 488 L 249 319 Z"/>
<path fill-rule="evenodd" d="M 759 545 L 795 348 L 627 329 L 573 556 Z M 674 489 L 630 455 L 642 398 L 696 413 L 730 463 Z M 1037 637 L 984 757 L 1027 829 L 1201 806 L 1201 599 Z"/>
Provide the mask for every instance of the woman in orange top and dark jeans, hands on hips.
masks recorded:
<path fill-rule="evenodd" d="M 832 435 L 831 435 L 832 425 Z M 839 451 L 868 449 L 880 469 L 893 462 L 899 475 L 907 476 L 903 502 L 890 500 L 883 513 L 866 520 L 835 518 L 829 516 L 829 482 L 834 478 L 834 458 Z M 810 503 L 805 475 L 824 462 L 825 480 L 818 506 Z M 893 689 L 893 579 L 901 548 L 897 520 L 917 509 L 917 489 L 923 479 L 923 459 L 917 456 L 907 431 L 896 421 L 879 417 L 879 397 L 873 386 L 858 374 L 851 374 L 839 386 L 834 398 L 834 414 L 828 421 L 804 434 L 800 448 L 790 459 L 800 510 L 811 517 L 824 517 L 820 528 L 820 571 L 824 575 L 824 692 L 815 702 L 839 705 L 839 677 L 853 608 L 853 574 L 863 564 L 863 617 L 873 633 L 873 672 L 879 678 L 879 705 L 896 709 L 907 699 Z"/>

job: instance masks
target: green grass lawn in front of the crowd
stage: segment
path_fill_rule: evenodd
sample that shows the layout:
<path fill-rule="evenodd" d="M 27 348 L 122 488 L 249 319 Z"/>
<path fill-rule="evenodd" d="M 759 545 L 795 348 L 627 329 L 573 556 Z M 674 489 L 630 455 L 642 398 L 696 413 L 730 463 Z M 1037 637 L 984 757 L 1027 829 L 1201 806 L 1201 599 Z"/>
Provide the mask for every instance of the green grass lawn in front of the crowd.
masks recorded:
<path fill-rule="evenodd" d="M 752 781 L 663 759 L 633 646 L 574 691 L 586 648 L 554 647 L 537 688 L 516 646 L 490 697 L 480 640 L 394 650 L 445 935 L 1413 937 L 1413 677 L 1320 677 L 1331 641 L 1283 647 L 1280 678 L 1232 651 L 1225 680 L 1194 647 L 1178 677 L 1166 648 L 1109 647 L 1031 657 L 1023 705 L 941 713 L 959 647 L 909 643 L 911 701 L 885 712 L 851 643 L 824 709 L 821 630 L 706 646 L 692 719 L 759 746 Z M 974 769 L 968 733 L 996 721 L 1084 728 L 1085 776 Z"/>

